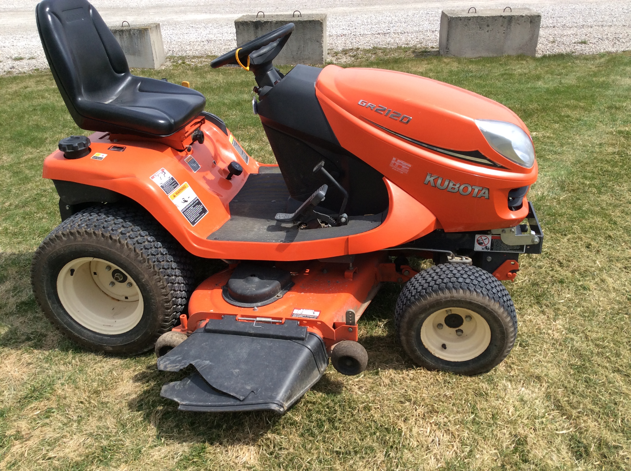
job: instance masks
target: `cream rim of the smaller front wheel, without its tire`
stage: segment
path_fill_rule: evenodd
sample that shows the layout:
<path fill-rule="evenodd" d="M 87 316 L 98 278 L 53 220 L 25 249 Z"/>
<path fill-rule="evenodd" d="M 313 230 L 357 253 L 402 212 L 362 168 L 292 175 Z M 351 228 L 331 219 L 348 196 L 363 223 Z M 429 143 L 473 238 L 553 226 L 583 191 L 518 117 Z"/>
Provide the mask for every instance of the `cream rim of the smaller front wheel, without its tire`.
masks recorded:
<path fill-rule="evenodd" d="M 487 321 L 474 311 L 446 308 L 425 319 L 421 326 L 421 341 L 438 358 L 467 361 L 487 349 L 491 343 L 491 329 Z"/>

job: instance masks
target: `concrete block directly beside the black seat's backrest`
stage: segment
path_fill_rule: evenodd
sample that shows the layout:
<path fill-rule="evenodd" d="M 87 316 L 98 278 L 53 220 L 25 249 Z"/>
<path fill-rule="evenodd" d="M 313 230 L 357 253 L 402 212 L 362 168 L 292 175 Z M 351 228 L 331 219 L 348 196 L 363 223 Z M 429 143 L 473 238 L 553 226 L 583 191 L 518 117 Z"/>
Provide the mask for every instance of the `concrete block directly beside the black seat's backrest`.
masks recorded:
<path fill-rule="evenodd" d="M 165 62 L 160 23 L 140 26 L 111 27 L 110 31 L 122 47 L 129 67 L 157 69 Z"/>

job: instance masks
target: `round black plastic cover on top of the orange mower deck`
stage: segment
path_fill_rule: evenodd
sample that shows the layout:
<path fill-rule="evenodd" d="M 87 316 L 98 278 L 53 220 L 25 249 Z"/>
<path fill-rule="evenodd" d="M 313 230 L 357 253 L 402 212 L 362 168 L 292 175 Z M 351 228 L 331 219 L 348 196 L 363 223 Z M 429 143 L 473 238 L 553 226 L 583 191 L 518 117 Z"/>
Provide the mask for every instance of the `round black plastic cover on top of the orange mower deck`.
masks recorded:
<path fill-rule="evenodd" d="M 292 274 L 287 270 L 240 263 L 221 294 L 233 306 L 254 308 L 282 298 L 292 286 Z"/>

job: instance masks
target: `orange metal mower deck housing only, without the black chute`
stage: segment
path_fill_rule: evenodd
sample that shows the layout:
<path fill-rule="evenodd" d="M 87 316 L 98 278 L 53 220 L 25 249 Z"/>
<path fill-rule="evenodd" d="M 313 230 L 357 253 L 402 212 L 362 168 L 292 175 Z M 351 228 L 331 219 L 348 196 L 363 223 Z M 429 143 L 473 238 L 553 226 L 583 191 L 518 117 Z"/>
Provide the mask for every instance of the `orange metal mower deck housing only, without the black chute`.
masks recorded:
<path fill-rule="evenodd" d="M 249 308 L 232 305 L 223 297 L 223 287 L 232 275 L 232 267 L 198 286 L 189 300 L 186 326 L 175 329 L 193 332 L 208 319 L 233 315 L 249 322 L 298 320 L 300 325 L 322 337 L 327 347 L 339 340 L 357 340 L 357 320 L 377 293 L 380 282 L 407 281 L 416 273 L 408 267 L 407 275 L 398 274 L 394 264 L 385 262 L 385 252 L 358 255 L 352 268 L 348 262 L 276 262 L 277 268 L 292 273 L 292 288 L 278 301 Z M 349 311 L 353 317 L 351 322 L 347 322 Z"/>

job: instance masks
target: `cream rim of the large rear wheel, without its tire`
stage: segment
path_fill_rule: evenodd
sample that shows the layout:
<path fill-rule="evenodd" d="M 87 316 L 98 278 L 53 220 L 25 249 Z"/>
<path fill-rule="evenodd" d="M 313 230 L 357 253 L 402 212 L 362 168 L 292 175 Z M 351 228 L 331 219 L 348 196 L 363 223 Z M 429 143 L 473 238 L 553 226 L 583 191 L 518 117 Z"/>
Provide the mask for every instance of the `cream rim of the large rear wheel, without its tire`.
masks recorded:
<path fill-rule="evenodd" d="M 70 317 L 98 334 L 124 334 L 143 317 L 138 285 L 106 260 L 82 257 L 66 264 L 57 275 L 57 294 Z"/>

